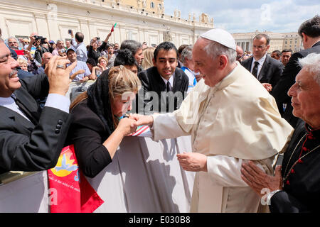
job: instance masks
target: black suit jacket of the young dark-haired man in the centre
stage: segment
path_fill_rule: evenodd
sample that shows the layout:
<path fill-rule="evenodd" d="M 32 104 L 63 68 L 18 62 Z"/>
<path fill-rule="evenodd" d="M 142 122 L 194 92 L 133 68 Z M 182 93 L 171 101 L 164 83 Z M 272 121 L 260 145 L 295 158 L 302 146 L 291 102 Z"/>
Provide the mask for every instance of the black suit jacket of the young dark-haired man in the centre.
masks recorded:
<path fill-rule="evenodd" d="M 172 86 L 174 95 L 169 95 L 169 105 L 166 105 L 166 84 L 157 68 L 150 67 L 139 72 L 138 77 L 142 82 L 142 89 L 138 92 L 136 99 L 136 108 L 139 114 L 172 112 L 180 107 L 186 97 L 189 80 L 188 76 L 178 67 L 174 73 L 174 84 Z M 171 106 L 174 106 L 174 109 Z"/>

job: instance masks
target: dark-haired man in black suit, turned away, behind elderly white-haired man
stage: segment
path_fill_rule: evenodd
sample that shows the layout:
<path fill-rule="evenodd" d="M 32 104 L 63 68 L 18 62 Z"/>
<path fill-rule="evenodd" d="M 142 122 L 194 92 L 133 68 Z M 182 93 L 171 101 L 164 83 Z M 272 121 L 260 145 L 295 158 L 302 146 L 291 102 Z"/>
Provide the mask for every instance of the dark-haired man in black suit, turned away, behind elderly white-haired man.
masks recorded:
<path fill-rule="evenodd" d="M 280 114 L 292 127 L 296 125 L 298 118 L 292 115 L 291 98 L 287 93 L 292 84 L 294 84 L 298 72 L 301 70 L 298 58 L 306 57 L 311 52 L 320 52 L 320 16 L 314 16 L 314 18 L 302 23 L 298 33 L 302 37 L 304 50 L 295 52 L 290 57 L 289 62 L 284 67 L 282 77 L 272 93 L 277 101 Z"/>

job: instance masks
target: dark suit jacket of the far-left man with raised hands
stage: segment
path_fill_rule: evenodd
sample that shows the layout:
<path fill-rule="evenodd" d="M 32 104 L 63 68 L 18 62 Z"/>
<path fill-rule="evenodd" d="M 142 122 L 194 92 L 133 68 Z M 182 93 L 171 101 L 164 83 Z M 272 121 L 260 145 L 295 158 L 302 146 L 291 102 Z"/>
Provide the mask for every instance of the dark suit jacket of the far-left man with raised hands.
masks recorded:
<path fill-rule="evenodd" d="M 48 77 L 21 79 L 14 94 L 38 123 L 0 106 L 0 173 L 40 171 L 55 167 L 70 124 L 70 114 L 52 107 L 41 112 L 36 99 L 48 95 Z"/>

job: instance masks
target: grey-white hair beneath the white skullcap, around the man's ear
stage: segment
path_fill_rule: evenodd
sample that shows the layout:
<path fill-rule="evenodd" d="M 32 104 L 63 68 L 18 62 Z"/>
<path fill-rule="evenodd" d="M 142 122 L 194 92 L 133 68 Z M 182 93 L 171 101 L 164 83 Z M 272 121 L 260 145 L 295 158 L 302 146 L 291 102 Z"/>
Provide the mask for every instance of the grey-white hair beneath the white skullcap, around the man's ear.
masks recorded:
<path fill-rule="evenodd" d="M 235 50 L 227 48 L 226 46 L 217 43 L 213 40 L 208 40 L 206 38 L 203 39 L 207 40 L 208 43 L 204 48 L 204 50 L 206 50 L 207 55 L 210 55 L 213 58 L 218 57 L 219 55 L 226 55 L 230 63 L 235 62 L 237 58 L 237 52 Z"/>

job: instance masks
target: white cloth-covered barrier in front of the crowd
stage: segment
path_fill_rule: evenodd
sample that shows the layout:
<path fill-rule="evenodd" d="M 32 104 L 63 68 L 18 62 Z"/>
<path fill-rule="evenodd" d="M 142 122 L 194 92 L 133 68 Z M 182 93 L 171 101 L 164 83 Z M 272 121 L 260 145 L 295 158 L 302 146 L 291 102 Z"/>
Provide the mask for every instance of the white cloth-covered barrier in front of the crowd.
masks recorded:
<path fill-rule="evenodd" d="M 176 154 L 191 152 L 191 137 L 154 142 L 126 137 L 110 165 L 87 178 L 105 201 L 95 212 L 188 212 L 194 173 Z M 48 212 L 46 171 L 0 185 L 0 212 Z"/>

